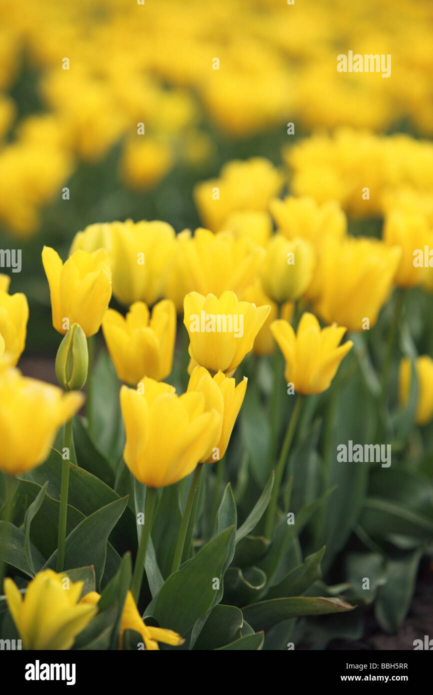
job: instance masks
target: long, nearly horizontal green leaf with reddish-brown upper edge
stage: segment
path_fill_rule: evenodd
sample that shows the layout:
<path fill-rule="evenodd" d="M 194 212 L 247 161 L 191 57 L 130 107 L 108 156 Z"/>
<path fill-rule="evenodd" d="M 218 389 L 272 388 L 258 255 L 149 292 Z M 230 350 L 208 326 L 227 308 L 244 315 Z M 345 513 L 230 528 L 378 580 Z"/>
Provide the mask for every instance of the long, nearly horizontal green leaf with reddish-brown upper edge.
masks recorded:
<path fill-rule="evenodd" d="M 354 606 L 341 598 L 323 596 L 292 596 L 291 598 L 272 598 L 253 603 L 242 609 L 245 620 L 254 630 L 266 630 L 288 618 L 305 615 L 325 615 L 353 610 Z"/>

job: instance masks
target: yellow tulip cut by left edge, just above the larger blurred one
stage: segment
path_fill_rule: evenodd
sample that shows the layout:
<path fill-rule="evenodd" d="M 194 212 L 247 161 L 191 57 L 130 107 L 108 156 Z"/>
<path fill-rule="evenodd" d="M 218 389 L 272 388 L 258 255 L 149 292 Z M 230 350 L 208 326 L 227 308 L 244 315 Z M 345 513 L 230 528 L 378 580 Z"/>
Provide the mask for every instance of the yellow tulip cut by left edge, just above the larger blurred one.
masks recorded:
<path fill-rule="evenodd" d="M 7 275 L 0 275 L 0 371 L 15 367 L 26 344 L 26 296 L 22 293 L 9 295 L 9 282 Z"/>

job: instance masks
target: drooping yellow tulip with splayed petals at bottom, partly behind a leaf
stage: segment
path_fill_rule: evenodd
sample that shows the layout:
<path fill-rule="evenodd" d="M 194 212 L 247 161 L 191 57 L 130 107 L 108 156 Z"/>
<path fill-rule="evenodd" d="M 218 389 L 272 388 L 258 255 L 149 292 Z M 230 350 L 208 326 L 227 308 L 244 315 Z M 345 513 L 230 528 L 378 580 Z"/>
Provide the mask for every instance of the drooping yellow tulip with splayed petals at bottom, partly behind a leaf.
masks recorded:
<path fill-rule="evenodd" d="M 89 594 L 85 594 L 81 599 L 80 603 L 96 605 L 101 596 L 97 591 L 90 591 Z M 179 646 L 185 641 L 182 639 L 177 632 L 173 630 L 165 630 L 164 628 L 152 628 L 151 626 L 145 625 L 136 602 L 133 599 L 131 591 L 126 594 L 126 600 L 122 612 L 122 621 L 120 623 L 120 636 L 119 636 L 119 649 L 122 649 L 123 636 L 125 630 L 134 630 L 142 636 L 142 640 L 145 644 L 147 650 L 156 651 L 159 649 L 158 642 L 163 642 L 164 644 L 171 644 L 172 646 Z"/>

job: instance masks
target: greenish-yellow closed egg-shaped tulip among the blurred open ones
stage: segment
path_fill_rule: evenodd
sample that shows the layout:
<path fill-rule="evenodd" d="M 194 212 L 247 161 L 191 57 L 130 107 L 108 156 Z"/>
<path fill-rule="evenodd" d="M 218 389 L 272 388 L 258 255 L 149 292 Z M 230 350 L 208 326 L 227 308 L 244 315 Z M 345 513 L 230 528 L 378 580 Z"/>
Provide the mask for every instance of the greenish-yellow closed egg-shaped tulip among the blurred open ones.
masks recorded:
<path fill-rule="evenodd" d="M 313 247 L 307 241 L 275 234 L 261 270 L 265 293 L 278 304 L 299 299 L 311 282 L 315 262 Z"/>

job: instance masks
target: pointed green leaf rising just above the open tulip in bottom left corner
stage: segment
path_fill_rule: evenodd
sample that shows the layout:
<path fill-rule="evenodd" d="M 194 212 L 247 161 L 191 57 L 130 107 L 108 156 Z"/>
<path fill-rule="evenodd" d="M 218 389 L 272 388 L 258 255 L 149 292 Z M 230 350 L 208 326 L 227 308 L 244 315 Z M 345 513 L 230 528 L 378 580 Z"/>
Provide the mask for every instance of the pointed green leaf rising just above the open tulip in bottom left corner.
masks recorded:
<path fill-rule="evenodd" d="M 66 569 L 76 567 L 77 564 L 93 564 L 97 590 L 99 590 L 104 574 L 108 536 L 122 516 L 127 501 L 128 499 L 124 497 L 101 507 L 97 512 L 83 519 L 66 539 Z M 56 560 L 57 550 L 47 560 L 45 569 L 54 569 Z"/>

